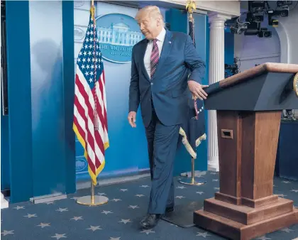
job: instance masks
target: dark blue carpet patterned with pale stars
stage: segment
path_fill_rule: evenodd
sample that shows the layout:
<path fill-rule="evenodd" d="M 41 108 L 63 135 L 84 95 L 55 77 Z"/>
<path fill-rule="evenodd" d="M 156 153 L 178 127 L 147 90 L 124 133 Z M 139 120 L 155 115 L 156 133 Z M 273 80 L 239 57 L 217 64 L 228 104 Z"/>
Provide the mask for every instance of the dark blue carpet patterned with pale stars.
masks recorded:
<path fill-rule="evenodd" d="M 202 186 L 181 185 L 175 181 L 176 204 L 199 201 L 214 197 L 219 190 L 219 176 L 207 172 L 207 183 Z M 298 182 L 275 178 L 274 192 L 280 197 L 294 200 L 298 207 Z M 80 190 L 65 200 L 44 204 L 30 202 L 10 204 L 1 209 L 1 239 L 223 239 L 198 227 L 182 229 L 160 221 L 153 230 L 141 231 L 138 222 L 146 214 L 150 194 L 150 179 L 96 187 L 97 195 L 109 197 L 109 202 L 99 207 L 77 204 L 79 196 L 89 195 L 89 190 Z M 290 240 L 298 237 L 298 225 L 275 231 L 257 239 Z"/>

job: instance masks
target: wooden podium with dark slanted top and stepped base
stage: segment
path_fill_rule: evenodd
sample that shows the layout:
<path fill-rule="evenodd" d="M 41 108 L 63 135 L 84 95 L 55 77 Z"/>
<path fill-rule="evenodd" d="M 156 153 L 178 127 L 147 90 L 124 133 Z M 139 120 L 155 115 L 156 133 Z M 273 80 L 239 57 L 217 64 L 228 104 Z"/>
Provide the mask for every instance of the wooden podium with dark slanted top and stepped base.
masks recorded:
<path fill-rule="evenodd" d="M 272 195 L 281 112 L 298 109 L 297 72 L 265 63 L 206 88 L 205 109 L 217 116 L 220 190 L 194 212 L 198 227 L 244 240 L 298 223 L 293 201 Z"/>

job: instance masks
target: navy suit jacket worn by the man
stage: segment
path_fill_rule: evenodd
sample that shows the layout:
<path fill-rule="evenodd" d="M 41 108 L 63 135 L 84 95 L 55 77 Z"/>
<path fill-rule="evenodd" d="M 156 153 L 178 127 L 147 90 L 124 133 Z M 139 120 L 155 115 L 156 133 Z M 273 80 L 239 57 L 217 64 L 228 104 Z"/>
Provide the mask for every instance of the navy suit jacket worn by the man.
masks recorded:
<path fill-rule="evenodd" d="M 147 127 L 152 117 L 152 99 L 162 124 L 182 124 L 189 111 L 187 80 L 201 83 L 205 63 L 199 58 L 192 38 L 185 33 L 167 31 L 157 69 L 150 79 L 144 64 L 147 44 L 148 40 L 143 39 L 133 46 L 129 111 L 138 111 L 140 104 L 143 124 Z"/>

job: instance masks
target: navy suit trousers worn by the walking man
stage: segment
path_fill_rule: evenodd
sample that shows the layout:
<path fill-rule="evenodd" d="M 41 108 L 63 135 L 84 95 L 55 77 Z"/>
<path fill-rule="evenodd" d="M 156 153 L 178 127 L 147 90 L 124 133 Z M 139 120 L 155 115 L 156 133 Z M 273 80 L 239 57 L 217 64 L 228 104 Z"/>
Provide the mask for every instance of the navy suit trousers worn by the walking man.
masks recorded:
<path fill-rule="evenodd" d="M 149 214 L 164 214 L 174 206 L 173 169 L 180 125 L 165 126 L 155 114 L 145 129 L 151 174 Z"/>

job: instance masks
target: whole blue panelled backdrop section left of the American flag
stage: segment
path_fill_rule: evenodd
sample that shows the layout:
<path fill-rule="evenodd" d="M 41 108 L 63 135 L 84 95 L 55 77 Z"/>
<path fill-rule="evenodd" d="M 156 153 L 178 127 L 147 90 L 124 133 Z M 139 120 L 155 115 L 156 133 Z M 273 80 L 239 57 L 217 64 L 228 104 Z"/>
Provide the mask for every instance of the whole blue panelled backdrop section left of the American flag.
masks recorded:
<path fill-rule="evenodd" d="M 73 1 L 6 1 L 6 29 L 1 190 L 11 202 L 75 192 Z"/>

